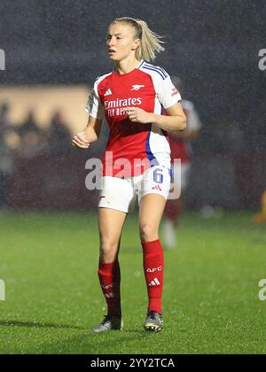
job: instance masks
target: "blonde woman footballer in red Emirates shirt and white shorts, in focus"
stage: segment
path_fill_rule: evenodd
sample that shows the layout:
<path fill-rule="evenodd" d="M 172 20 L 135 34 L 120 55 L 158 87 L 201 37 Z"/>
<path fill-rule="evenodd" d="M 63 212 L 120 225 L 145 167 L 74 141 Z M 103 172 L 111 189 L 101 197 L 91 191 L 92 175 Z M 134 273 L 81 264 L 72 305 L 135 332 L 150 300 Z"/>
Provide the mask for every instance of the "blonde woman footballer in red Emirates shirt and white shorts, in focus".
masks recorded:
<path fill-rule="evenodd" d="M 161 296 L 164 256 L 159 227 L 171 182 L 167 131 L 186 128 L 181 97 L 169 75 L 153 61 L 164 50 L 160 36 L 145 21 L 115 19 L 106 46 L 113 72 L 98 77 L 86 111 L 87 128 L 73 145 L 88 149 L 98 140 L 104 118 L 109 140 L 103 157 L 103 187 L 99 196 L 99 283 L 108 313 L 95 332 L 122 329 L 120 265 L 121 232 L 135 197 L 139 205 L 139 236 L 143 247 L 148 311 L 147 331 L 162 329 Z M 165 114 L 162 114 L 164 112 Z"/>

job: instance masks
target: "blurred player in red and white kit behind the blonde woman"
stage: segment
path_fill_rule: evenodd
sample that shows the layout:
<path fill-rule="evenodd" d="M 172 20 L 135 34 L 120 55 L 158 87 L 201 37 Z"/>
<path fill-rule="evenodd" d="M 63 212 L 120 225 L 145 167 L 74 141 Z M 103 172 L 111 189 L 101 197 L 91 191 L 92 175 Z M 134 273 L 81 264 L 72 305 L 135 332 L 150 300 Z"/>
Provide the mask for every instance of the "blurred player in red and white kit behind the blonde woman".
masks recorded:
<path fill-rule="evenodd" d="M 171 77 L 173 84 L 181 90 L 182 81 L 176 77 Z M 168 200 L 165 209 L 165 221 L 163 226 L 163 235 L 165 246 L 168 249 L 176 247 L 176 227 L 179 223 L 181 213 L 183 212 L 184 191 L 187 189 L 192 169 L 192 141 L 196 140 L 200 135 L 201 122 L 198 112 L 190 101 L 182 100 L 181 105 L 187 117 L 187 128 L 183 132 L 168 132 L 169 143 L 171 148 L 171 162 L 174 167 L 174 159 L 181 159 L 181 197 Z M 178 166 L 176 166 L 178 167 Z M 178 170 L 173 169 L 174 174 Z M 180 180 L 174 179 L 175 188 L 178 188 Z M 179 186 L 180 187 L 180 186 Z"/>

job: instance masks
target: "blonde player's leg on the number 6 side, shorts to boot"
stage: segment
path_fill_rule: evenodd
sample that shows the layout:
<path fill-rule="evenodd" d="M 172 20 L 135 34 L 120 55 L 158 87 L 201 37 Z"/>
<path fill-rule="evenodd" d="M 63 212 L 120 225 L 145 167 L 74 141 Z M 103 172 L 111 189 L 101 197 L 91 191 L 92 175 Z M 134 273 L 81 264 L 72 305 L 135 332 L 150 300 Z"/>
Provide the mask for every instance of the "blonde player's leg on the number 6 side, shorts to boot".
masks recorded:
<path fill-rule="evenodd" d="M 166 167 L 151 167 L 137 181 L 139 235 L 143 247 L 145 280 L 149 298 L 145 330 L 162 329 L 161 296 L 164 253 L 159 239 L 160 221 L 171 185 Z"/>

